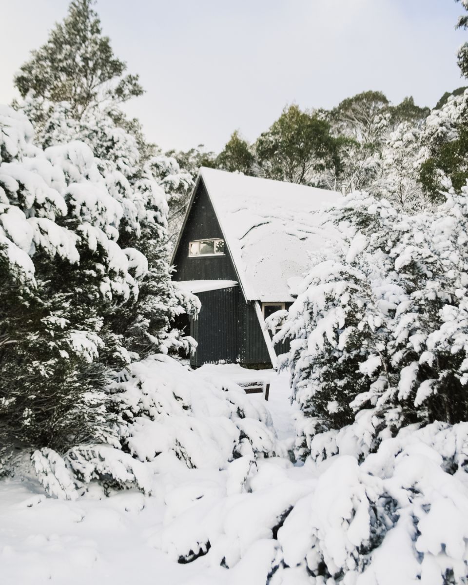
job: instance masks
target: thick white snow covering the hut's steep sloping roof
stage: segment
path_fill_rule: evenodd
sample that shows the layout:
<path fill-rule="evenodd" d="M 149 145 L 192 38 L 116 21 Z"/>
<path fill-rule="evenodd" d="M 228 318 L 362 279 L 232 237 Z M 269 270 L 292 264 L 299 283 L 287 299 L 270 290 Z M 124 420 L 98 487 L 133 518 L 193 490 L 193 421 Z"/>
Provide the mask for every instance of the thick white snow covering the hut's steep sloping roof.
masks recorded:
<path fill-rule="evenodd" d="M 247 300 L 290 301 L 288 280 L 302 277 L 309 252 L 339 238 L 319 214 L 335 191 L 200 169 Z"/>

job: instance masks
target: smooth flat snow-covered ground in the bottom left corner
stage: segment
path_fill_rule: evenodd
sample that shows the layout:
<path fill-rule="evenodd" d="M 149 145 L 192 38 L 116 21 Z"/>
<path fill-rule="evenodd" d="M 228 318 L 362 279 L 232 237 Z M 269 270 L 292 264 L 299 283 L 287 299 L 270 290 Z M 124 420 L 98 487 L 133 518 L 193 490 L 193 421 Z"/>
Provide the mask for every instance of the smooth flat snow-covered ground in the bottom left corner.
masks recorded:
<path fill-rule="evenodd" d="M 6 480 L 0 491 L 0 571 L 5 585 L 20 583 L 154 583 L 188 577 L 187 568 L 146 546 L 161 521 L 155 501 L 140 494 L 105 500 L 92 493 L 78 503 L 33 495 L 35 486 Z M 144 505 L 145 513 L 142 513 Z"/>

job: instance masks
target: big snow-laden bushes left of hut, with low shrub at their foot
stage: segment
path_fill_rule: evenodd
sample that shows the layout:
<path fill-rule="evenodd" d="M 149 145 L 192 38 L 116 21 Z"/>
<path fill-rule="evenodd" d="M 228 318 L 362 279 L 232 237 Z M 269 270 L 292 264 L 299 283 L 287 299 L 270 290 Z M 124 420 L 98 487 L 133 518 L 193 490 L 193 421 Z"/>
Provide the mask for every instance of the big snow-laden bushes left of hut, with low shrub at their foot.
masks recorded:
<path fill-rule="evenodd" d="M 149 493 L 143 462 L 160 453 L 216 469 L 273 455 L 269 415 L 238 387 L 168 357 L 136 361 L 183 347 L 168 325 L 198 304 L 170 282 L 164 191 L 150 170 L 132 174 L 131 137 L 119 133 L 118 170 L 78 140 L 43 150 L 23 115 L 1 114 L 2 441 L 39 448 L 36 472 L 59 497 L 94 479 Z"/>

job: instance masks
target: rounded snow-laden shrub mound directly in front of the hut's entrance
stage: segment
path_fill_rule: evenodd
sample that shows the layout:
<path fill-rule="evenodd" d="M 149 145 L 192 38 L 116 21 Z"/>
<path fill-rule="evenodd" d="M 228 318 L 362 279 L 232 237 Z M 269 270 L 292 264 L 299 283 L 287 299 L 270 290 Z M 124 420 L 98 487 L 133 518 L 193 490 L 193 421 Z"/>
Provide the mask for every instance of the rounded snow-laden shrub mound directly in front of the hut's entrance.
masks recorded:
<path fill-rule="evenodd" d="M 274 455 L 266 408 L 236 384 L 220 387 L 216 378 L 194 374 L 170 357 L 133 363 L 112 390 L 129 422 L 123 442 L 137 459 L 173 451 L 189 467 L 221 469 L 234 457 Z"/>

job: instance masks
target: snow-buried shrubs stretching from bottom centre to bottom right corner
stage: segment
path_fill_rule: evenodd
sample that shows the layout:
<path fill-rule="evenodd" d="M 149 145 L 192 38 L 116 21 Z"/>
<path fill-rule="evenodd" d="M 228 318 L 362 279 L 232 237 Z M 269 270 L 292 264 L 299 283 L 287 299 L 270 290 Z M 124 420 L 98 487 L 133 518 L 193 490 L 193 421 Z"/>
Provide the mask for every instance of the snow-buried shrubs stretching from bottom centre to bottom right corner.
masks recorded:
<path fill-rule="evenodd" d="M 466 583 L 467 439 L 467 423 L 409 426 L 362 463 L 244 456 L 216 480 L 171 477 L 148 544 L 180 563 L 206 555 L 233 582 Z"/>

